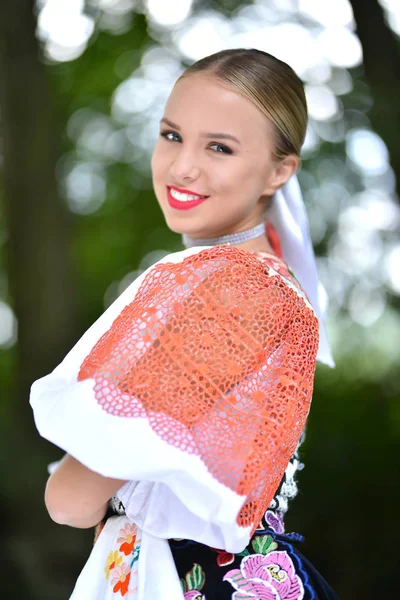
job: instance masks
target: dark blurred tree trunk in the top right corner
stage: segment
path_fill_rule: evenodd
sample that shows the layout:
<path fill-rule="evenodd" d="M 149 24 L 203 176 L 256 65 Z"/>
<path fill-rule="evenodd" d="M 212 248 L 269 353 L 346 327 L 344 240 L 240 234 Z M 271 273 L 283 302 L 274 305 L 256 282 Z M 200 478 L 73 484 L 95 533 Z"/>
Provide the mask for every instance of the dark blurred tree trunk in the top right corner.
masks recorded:
<path fill-rule="evenodd" d="M 370 119 L 390 154 L 400 195 L 400 44 L 385 22 L 378 0 L 350 0 L 371 88 Z"/>

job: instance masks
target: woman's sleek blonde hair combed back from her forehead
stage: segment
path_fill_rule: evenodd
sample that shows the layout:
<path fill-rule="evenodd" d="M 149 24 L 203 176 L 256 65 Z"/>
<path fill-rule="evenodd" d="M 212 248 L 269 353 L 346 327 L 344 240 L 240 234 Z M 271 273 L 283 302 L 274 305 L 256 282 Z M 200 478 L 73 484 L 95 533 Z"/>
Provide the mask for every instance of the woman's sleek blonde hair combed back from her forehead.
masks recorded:
<path fill-rule="evenodd" d="M 208 71 L 249 98 L 276 129 L 275 157 L 300 156 L 307 129 L 301 80 L 289 65 L 261 50 L 237 48 L 206 56 L 182 77 Z"/>

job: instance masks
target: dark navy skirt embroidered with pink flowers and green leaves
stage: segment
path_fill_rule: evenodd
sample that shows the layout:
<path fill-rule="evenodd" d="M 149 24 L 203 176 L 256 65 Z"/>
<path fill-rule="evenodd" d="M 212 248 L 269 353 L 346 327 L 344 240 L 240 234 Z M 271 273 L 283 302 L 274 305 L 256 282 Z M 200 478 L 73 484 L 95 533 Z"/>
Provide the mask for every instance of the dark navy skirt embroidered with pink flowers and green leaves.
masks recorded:
<path fill-rule="evenodd" d="M 185 600 L 338 600 L 298 550 L 302 536 L 258 530 L 240 554 L 170 540 Z"/>

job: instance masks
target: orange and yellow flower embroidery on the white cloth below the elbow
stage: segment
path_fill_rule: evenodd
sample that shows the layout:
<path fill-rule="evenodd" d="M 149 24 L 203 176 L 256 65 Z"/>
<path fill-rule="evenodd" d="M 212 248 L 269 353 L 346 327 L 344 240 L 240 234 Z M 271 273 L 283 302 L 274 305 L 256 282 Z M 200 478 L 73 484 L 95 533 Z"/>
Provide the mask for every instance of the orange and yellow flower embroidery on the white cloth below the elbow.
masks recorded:
<path fill-rule="evenodd" d="M 110 583 L 114 594 L 125 596 L 132 593 L 133 589 L 129 589 L 130 583 L 132 584 L 131 588 L 133 586 L 136 589 L 140 538 L 140 529 L 126 519 L 114 543 L 114 548 L 115 546 L 117 548 L 110 551 L 104 568 L 106 579 L 111 577 Z M 122 562 L 126 557 L 128 557 L 127 562 Z"/>

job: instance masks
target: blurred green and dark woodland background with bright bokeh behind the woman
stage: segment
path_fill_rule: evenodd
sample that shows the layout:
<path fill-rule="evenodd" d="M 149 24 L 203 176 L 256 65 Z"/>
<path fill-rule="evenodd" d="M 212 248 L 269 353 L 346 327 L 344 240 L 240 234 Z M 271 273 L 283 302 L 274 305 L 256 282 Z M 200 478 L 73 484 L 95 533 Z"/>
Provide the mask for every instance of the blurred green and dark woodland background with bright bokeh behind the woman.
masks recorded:
<path fill-rule="evenodd" d="M 287 61 L 310 112 L 300 181 L 337 368 L 317 369 L 287 529 L 341 600 L 398 596 L 399 37 L 399 0 L 0 3 L 1 597 L 66 600 L 90 552 L 45 511 L 61 452 L 29 387 L 182 249 L 151 189 L 158 121 L 184 66 L 231 47 Z"/>

